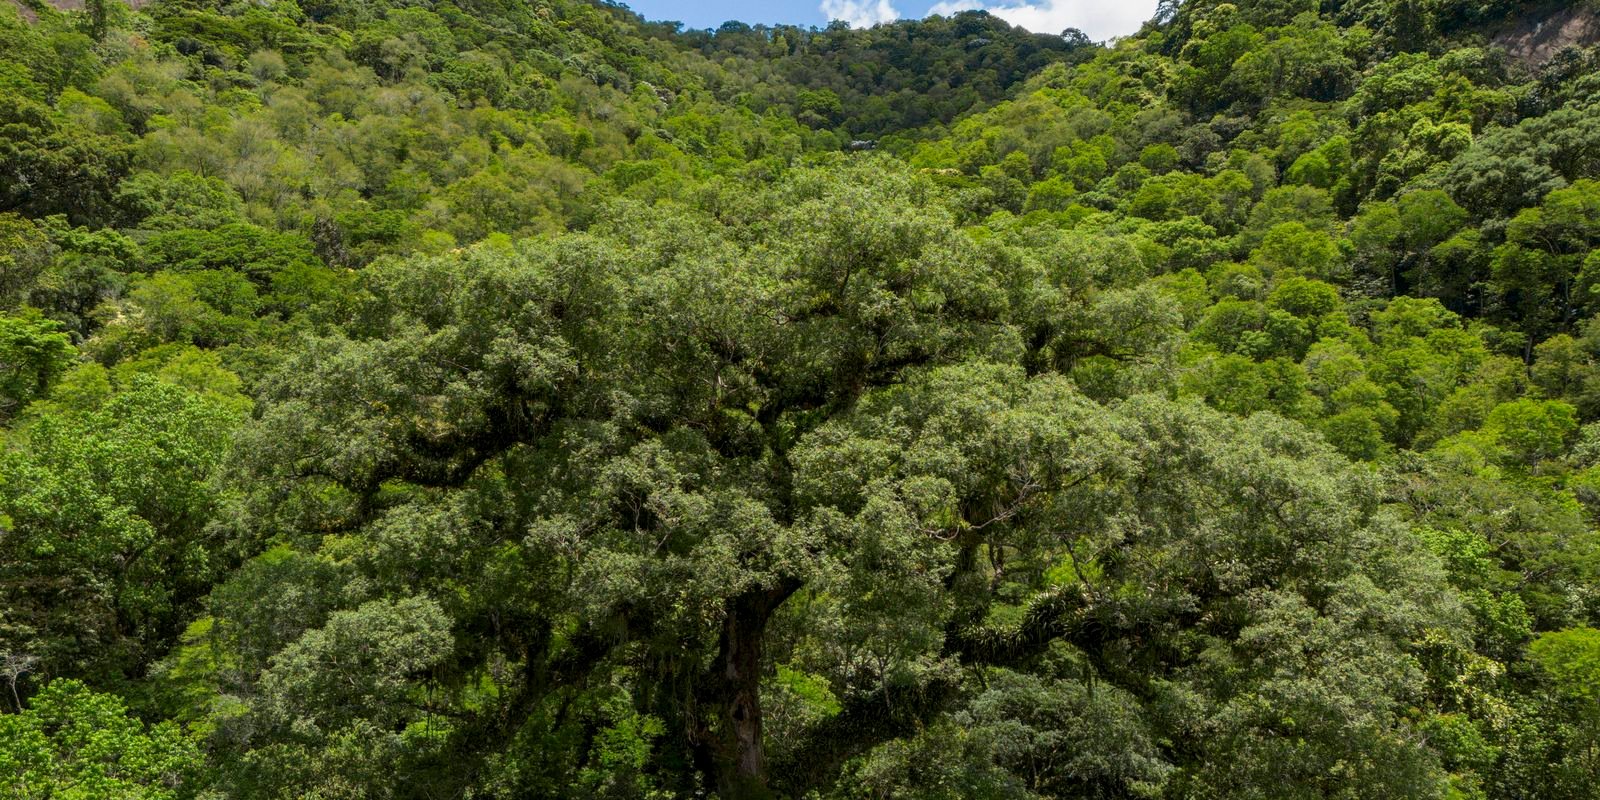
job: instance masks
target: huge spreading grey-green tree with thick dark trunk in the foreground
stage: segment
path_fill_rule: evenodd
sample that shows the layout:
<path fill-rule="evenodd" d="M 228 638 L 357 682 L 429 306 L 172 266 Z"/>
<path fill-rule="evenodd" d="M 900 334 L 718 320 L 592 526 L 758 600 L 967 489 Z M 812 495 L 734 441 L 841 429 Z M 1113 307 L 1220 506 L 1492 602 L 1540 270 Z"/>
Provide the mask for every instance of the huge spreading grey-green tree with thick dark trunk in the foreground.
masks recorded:
<path fill-rule="evenodd" d="M 362 741 L 362 781 L 800 795 L 1046 656 L 1165 744 L 1040 787 L 1438 790 L 1400 710 L 1453 598 L 1312 434 L 1030 374 L 1093 304 L 904 171 L 707 208 L 374 266 L 270 382 L 230 517 L 288 550 L 195 638 L 259 653 L 210 678 L 237 792 L 354 781 Z"/>

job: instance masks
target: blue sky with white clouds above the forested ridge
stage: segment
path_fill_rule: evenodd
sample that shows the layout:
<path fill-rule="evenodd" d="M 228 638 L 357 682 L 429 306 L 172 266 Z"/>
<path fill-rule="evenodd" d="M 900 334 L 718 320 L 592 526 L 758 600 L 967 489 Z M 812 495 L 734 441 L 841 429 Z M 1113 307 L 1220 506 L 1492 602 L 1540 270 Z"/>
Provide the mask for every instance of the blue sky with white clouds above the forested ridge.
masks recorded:
<path fill-rule="evenodd" d="M 1155 13 L 1155 0 L 624 0 L 650 19 L 677 19 L 688 27 L 717 27 L 728 19 L 741 22 L 792 22 L 824 26 L 846 19 L 870 26 L 891 19 L 949 14 L 965 8 L 990 13 L 1038 34 L 1082 29 L 1091 38 L 1133 34 Z"/>

